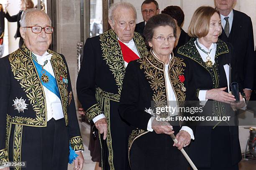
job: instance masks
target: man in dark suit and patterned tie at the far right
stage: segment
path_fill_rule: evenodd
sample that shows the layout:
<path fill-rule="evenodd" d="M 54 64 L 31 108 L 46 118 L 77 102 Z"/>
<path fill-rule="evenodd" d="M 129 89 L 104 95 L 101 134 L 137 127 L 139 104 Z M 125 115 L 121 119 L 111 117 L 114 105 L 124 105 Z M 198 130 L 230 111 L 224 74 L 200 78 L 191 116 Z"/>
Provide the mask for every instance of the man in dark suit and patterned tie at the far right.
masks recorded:
<path fill-rule="evenodd" d="M 254 41 L 251 18 L 240 11 L 234 10 L 236 0 L 215 0 L 216 9 L 220 11 L 222 41 L 231 43 L 235 50 L 238 77 L 248 101 L 254 83 Z"/>

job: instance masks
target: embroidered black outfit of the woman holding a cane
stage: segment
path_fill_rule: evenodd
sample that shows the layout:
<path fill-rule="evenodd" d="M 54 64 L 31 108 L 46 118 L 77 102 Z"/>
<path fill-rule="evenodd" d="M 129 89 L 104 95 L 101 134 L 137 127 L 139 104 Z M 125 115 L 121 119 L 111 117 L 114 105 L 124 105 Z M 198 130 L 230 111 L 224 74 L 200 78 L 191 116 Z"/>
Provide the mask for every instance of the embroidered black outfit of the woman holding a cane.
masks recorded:
<path fill-rule="evenodd" d="M 180 107 L 187 99 L 187 91 L 183 89 L 184 84 L 179 76 L 184 76 L 186 69 L 183 59 L 172 56 L 169 63 L 169 79 Z M 169 135 L 147 131 L 152 115 L 144 110 L 165 107 L 167 96 L 171 95 L 167 93 L 164 70 L 165 64 L 152 52 L 144 58 L 131 61 L 126 68 L 119 113 L 133 127 L 128 144 L 132 170 L 167 170 L 170 167 L 176 170 L 187 169 L 184 156 L 172 146 L 173 141 Z M 185 86 L 189 84 L 186 83 Z M 179 114 L 181 116 L 181 113 Z M 162 114 L 161 117 L 166 116 Z M 172 125 L 172 122 L 170 124 Z M 189 126 L 188 122 L 181 122 L 180 125 Z M 181 127 L 179 124 L 173 127 L 177 134 Z"/>

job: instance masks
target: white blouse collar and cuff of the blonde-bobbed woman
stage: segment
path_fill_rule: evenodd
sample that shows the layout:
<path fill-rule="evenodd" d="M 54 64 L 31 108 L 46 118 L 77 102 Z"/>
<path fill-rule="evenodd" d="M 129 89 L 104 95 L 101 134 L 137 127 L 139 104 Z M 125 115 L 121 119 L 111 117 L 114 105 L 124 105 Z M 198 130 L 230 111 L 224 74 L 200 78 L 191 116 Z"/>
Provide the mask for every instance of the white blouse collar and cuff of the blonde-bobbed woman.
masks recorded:
<path fill-rule="evenodd" d="M 217 44 L 216 43 L 212 43 L 211 44 L 211 46 L 210 46 L 210 48 L 208 49 L 208 48 L 206 48 L 204 45 L 202 45 L 199 41 L 198 41 L 198 38 L 194 41 L 194 43 L 195 43 L 195 46 L 196 46 L 196 48 L 197 48 L 197 51 L 200 53 L 200 56 L 201 56 L 201 58 L 202 58 L 202 60 L 204 61 L 204 62 L 206 62 L 207 61 L 207 54 L 206 53 L 204 53 L 202 50 L 200 50 L 200 48 L 198 48 L 197 47 L 197 44 L 196 44 L 196 42 L 197 42 L 197 44 L 203 49 L 203 50 L 205 50 L 206 52 L 209 52 L 210 51 L 210 54 L 209 54 L 209 56 L 210 56 L 210 60 L 212 61 L 212 64 L 214 64 L 215 63 L 215 54 L 216 54 L 216 49 L 217 49 Z M 206 96 L 206 91 L 207 90 L 200 90 L 199 91 L 199 93 L 198 93 L 198 99 L 200 100 L 200 105 L 205 105 L 205 103 L 206 103 L 206 101 L 207 101 L 207 99 L 205 99 L 205 96 Z"/>

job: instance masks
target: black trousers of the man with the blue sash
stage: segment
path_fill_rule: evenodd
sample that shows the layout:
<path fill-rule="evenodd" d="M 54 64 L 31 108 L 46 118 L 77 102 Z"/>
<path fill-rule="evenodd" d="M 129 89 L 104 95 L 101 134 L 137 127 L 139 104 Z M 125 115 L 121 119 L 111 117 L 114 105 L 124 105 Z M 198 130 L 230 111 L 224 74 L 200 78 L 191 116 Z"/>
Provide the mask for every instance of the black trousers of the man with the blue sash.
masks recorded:
<path fill-rule="evenodd" d="M 13 124 L 11 127 L 9 159 L 14 161 L 20 157 L 20 161 L 26 161 L 26 167 L 18 170 L 67 170 L 69 137 L 64 118 L 49 120 L 47 127 L 22 126 L 21 147 L 18 155 L 15 144 L 17 127 L 20 125 Z"/>

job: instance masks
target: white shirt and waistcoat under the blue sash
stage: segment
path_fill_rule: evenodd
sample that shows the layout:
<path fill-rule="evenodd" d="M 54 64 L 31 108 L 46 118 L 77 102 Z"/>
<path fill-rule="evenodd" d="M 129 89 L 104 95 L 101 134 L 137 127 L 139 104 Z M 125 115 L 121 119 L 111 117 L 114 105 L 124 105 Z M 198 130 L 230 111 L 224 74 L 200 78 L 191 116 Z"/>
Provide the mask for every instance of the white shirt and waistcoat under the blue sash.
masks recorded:
<path fill-rule="evenodd" d="M 52 55 L 49 54 L 47 51 L 43 54 L 43 56 L 39 56 L 35 53 L 33 54 L 36 56 L 37 61 L 41 66 L 44 66 L 44 61 L 48 60 L 47 64 L 44 66 L 44 70 L 48 71 L 51 74 L 51 76 L 54 76 L 55 78 L 54 70 L 50 62 Z M 46 98 L 47 122 L 52 118 L 54 118 L 55 120 L 64 118 L 61 100 L 59 99 L 59 97 L 56 96 L 56 94 L 54 94 L 53 92 L 51 92 L 49 89 L 47 89 L 45 86 L 43 86 L 43 88 Z"/>

